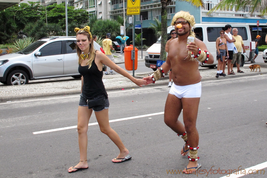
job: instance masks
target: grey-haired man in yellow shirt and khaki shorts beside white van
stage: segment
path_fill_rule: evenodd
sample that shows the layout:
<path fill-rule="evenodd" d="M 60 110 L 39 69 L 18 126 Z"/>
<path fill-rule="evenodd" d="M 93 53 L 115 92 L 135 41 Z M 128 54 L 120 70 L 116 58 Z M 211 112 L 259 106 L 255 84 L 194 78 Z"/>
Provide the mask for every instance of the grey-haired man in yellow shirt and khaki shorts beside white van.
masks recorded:
<path fill-rule="evenodd" d="M 245 45 L 243 43 L 242 37 L 240 35 L 237 35 L 238 33 L 237 28 L 233 28 L 232 32 L 233 32 L 233 36 L 235 39 L 234 45 L 237 48 L 238 53 L 233 54 L 233 60 L 231 62 L 231 71 L 233 71 L 233 66 L 234 66 L 234 63 L 236 62 L 237 72 L 244 73 L 242 70 L 240 70 L 240 60 L 241 60 L 242 48 L 243 48 L 243 53 L 246 52 Z"/>

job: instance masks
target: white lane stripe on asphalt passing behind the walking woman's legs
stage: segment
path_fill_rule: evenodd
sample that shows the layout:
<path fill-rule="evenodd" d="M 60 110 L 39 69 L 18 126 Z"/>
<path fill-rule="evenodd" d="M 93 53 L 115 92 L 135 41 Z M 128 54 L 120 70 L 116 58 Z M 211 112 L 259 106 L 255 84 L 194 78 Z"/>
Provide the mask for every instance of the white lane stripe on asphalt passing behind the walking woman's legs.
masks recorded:
<path fill-rule="evenodd" d="M 157 112 L 157 113 L 146 114 L 146 115 L 141 115 L 141 116 L 133 116 L 133 117 L 129 117 L 129 118 L 114 119 L 114 120 L 110 120 L 109 122 L 117 122 L 117 121 L 121 121 L 121 120 L 143 118 L 143 117 L 147 117 L 147 116 L 154 116 L 154 115 L 160 115 L 160 114 L 164 114 L 164 112 Z M 93 125 L 97 125 L 97 124 L 98 124 L 97 122 L 96 123 L 90 123 L 90 124 L 88 124 L 88 126 L 93 126 Z M 33 132 L 33 134 L 55 132 L 55 131 L 60 131 L 60 130 L 72 129 L 72 128 L 77 128 L 77 126 L 70 126 L 70 127 L 63 127 L 63 128 L 56 128 L 56 129 L 38 131 L 38 132 Z"/>

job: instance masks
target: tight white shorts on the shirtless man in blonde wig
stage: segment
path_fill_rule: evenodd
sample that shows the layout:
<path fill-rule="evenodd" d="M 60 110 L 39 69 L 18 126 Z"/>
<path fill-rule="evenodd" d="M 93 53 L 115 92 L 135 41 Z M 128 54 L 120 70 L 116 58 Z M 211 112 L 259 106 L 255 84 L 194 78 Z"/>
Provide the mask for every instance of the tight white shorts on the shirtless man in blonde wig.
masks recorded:
<path fill-rule="evenodd" d="M 200 98 L 201 97 L 201 82 L 186 85 L 178 86 L 172 83 L 169 94 L 175 95 L 177 98 Z"/>

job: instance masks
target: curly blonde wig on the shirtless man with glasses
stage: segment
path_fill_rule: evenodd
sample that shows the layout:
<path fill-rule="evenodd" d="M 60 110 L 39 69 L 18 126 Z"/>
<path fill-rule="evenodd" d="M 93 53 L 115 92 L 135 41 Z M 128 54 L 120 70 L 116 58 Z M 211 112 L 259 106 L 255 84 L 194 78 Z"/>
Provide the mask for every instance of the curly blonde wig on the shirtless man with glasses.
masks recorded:
<path fill-rule="evenodd" d="M 194 16 L 190 15 L 188 12 L 180 11 L 173 16 L 172 21 L 171 21 L 172 26 L 175 25 L 175 22 L 178 18 L 186 19 L 186 21 L 189 22 L 189 26 L 191 27 L 189 36 L 195 37 L 195 33 L 193 31 L 193 28 L 195 28 L 195 24 L 196 24 Z"/>

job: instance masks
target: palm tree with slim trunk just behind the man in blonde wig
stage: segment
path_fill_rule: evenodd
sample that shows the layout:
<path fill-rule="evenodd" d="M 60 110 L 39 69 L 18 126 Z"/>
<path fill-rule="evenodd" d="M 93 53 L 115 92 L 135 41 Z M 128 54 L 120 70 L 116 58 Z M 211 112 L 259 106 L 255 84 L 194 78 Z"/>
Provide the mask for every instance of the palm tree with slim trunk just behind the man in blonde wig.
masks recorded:
<path fill-rule="evenodd" d="M 191 5 L 199 8 L 204 7 L 203 0 L 178 0 L 186 1 L 191 3 Z M 160 46 L 160 60 L 166 60 L 167 53 L 165 51 L 165 46 L 167 42 L 167 6 L 172 2 L 172 0 L 160 0 L 161 2 L 161 46 Z"/>

